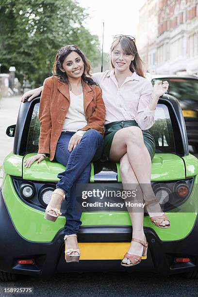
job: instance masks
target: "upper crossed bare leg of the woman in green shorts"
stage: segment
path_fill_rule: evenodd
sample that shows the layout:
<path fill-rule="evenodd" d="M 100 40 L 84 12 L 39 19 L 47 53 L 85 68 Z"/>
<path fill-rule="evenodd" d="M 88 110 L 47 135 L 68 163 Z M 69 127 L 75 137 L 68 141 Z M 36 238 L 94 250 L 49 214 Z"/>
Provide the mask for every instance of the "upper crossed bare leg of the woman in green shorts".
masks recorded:
<path fill-rule="evenodd" d="M 132 170 L 141 186 L 145 200 L 149 201 L 155 199 L 155 194 L 150 184 L 150 155 L 144 144 L 143 134 L 139 127 L 127 127 L 115 133 L 110 150 L 110 159 L 117 162 L 125 153 L 128 155 Z M 144 167 L 142 166 L 143 162 Z M 153 212 L 153 210 L 155 212 Z M 151 207 L 147 206 L 147 211 L 149 216 L 161 216 L 163 214 L 159 203 L 152 204 Z M 168 224 L 169 221 L 167 220 L 161 223 L 163 226 Z"/>

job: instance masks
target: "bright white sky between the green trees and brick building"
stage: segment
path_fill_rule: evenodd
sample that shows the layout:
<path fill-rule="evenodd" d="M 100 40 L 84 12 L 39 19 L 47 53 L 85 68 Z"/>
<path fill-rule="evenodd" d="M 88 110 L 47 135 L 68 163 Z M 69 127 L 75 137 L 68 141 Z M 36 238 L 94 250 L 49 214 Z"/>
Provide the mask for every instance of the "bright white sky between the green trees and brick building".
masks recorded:
<path fill-rule="evenodd" d="M 81 7 L 87 9 L 90 17 L 85 21 L 85 27 L 92 34 L 99 36 L 102 44 L 104 22 L 105 52 L 110 51 L 111 43 L 116 34 L 136 36 L 139 9 L 146 0 L 77 0 Z"/>

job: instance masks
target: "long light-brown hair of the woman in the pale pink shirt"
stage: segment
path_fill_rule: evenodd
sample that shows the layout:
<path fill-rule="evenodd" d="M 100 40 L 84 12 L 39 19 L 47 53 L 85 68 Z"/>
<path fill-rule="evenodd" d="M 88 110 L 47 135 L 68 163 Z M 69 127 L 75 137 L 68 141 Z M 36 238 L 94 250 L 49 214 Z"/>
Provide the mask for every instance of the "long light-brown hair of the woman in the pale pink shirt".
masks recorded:
<path fill-rule="evenodd" d="M 137 51 L 134 41 L 125 37 L 124 35 L 115 38 L 115 40 L 113 41 L 113 43 L 111 45 L 111 53 L 115 49 L 116 45 L 118 45 L 118 43 L 120 43 L 121 48 L 123 49 L 123 51 L 125 53 L 135 55 L 134 60 L 131 62 L 130 66 L 129 66 L 132 73 L 135 71 L 139 76 L 145 77 L 144 71 L 143 71 L 144 62 L 142 61 L 142 59 L 140 58 L 140 56 L 138 54 L 138 51 Z M 114 69 L 115 67 L 112 64 L 112 62 L 111 62 L 111 65 L 112 65 L 112 68 Z"/>

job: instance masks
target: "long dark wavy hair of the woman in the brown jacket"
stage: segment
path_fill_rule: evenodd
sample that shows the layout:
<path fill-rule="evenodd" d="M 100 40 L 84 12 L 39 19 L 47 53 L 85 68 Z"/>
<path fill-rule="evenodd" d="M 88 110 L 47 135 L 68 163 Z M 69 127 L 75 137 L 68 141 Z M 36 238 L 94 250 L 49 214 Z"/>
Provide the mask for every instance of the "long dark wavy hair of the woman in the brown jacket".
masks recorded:
<path fill-rule="evenodd" d="M 57 51 L 55 61 L 53 64 L 53 75 L 57 76 L 60 80 L 60 82 L 66 82 L 68 83 L 68 77 L 66 75 L 66 72 L 61 71 L 61 68 L 63 68 L 63 62 L 66 59 L 66 57 L 72 52 L 75 51 L 79 56 L 82 58 L 83 64 L 84 64 L 84 71 L 82 73 L 82 80 L 84 82 L 87 82 L 89 85 L 97 85 L 96 82 L 93 81 L 93 79 L 90 77 L 90 70 L 91 66 L 89 64 L 89 61 L 86 59 L 85 55 L 82 53 L 82 51 L 78 48 L 77 45 L 67 45 Z"/>

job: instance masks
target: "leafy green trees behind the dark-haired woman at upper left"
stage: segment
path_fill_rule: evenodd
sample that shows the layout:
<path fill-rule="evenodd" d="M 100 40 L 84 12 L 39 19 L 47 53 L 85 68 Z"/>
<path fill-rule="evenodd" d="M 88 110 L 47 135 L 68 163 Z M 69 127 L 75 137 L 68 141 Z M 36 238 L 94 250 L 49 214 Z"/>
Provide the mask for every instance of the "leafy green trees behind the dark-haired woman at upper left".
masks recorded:
<path fill-rule="evenodd" d="M 51 75 L 56 51 L 78 44 L 93 66 L 99 39 L 83 26 L 88 15 L 75 0 L 0 0 L 0 64 L 32 86 Z"/>

